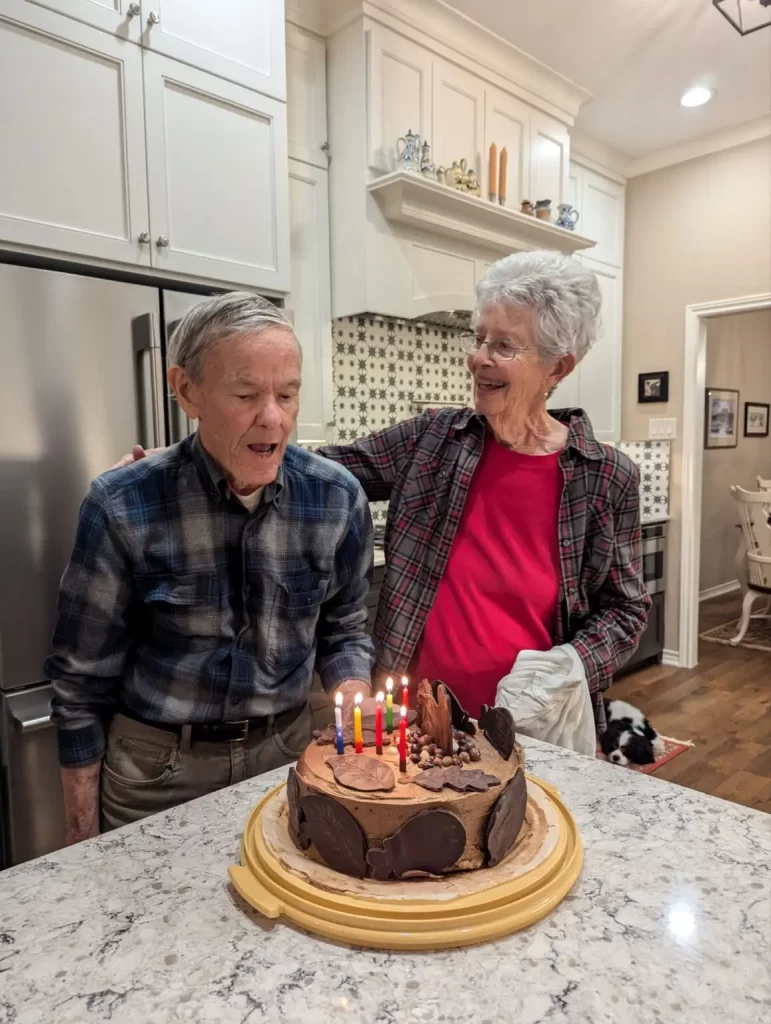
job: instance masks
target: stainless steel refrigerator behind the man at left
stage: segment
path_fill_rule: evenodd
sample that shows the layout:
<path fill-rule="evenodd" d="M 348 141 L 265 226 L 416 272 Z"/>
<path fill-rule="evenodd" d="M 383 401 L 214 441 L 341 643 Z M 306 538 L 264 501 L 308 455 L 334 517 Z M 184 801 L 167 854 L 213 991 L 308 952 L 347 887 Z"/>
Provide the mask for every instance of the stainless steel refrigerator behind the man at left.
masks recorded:
<path fill-rule="evenodd" d="M 0 264 L 0 866 L 63 843 L 42 666 L 90 481 L 190 424 L 165 343 L 201 295 Z"/>

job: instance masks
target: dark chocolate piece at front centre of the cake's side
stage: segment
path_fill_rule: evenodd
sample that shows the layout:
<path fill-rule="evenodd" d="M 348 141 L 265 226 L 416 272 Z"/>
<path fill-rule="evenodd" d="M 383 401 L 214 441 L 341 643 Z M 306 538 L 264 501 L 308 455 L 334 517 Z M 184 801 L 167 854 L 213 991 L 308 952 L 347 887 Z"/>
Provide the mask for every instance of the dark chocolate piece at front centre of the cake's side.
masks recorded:
<path fill-rule="evenodd" d="M 425 773 L 424 773 L 425 774 Z M 410 873 L 442 874 L 466 847 L 466 829 L 452 811 L 416 814 L 380 847 L 372 847 L 367 863 L 374 879 L 386 882 Z"/>

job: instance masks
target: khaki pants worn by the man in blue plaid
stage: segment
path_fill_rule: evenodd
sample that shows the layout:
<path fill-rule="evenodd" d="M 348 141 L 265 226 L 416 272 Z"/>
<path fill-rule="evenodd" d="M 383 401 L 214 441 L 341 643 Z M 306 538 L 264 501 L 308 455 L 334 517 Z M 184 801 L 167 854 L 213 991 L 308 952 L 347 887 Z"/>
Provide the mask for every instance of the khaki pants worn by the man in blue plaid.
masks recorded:
<path fill-rule="evenodd" d="M 116 715 L 101 766 L 101 829 L 139 821 L 296 761 L 310 741 L 308 708 L 286 712 L 245 740 L 190 742 L 181 735 Z"/>

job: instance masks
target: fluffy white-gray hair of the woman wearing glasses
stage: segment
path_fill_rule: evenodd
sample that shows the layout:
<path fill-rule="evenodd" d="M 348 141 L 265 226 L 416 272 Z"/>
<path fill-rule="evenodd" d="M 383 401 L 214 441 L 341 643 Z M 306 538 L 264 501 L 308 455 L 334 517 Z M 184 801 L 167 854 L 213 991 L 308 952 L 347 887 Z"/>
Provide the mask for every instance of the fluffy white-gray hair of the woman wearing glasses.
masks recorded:
<path fill-rule="evenodd" d="M 474 322 L 487 306 L 536 310 L 542 357 L 572 354 L 581 362 L 597 340 L 602 298 L 591 270 L 547 249 L 514 253 L 494 263 L 476 286 Z"/>

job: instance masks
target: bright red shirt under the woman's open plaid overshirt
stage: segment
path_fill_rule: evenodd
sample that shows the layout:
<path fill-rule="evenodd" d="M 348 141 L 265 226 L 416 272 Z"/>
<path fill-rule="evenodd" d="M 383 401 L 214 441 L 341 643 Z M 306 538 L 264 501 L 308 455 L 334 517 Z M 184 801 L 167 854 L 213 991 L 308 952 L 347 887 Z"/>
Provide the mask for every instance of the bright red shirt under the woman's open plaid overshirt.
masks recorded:
<path fill-rule="evenodd" d="M 411 667 L 477 718 L 520 650 L 553 644 L 559 600 L 559 453 L 520 455 L 491 436 Z"/>

